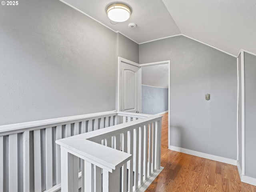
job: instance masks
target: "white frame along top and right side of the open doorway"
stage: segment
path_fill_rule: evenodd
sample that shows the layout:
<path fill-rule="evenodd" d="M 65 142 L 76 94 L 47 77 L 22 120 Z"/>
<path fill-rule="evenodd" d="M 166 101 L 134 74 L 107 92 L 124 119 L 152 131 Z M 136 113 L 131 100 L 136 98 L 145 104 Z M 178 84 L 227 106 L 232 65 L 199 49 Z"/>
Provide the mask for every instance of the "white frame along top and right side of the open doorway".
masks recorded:
<path fill-rule="evenodd" d="M 170 60 L 140 64 L 140 67 L 168 64 L 168 148 L 170 149 Z"/>

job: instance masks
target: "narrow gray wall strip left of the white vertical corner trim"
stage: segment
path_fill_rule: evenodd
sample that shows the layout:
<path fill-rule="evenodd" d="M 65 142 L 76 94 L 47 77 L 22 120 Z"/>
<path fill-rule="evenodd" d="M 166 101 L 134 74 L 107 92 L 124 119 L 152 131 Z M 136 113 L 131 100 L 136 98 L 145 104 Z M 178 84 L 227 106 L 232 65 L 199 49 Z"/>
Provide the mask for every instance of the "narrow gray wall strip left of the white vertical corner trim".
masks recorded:
<path fill-rule="evenodd" d="M 238 57 L 239 76 L 239 106 L 238 106 L 238 163 L 242 168 L 242 84 L 241 84 L 241 54 Z"/>

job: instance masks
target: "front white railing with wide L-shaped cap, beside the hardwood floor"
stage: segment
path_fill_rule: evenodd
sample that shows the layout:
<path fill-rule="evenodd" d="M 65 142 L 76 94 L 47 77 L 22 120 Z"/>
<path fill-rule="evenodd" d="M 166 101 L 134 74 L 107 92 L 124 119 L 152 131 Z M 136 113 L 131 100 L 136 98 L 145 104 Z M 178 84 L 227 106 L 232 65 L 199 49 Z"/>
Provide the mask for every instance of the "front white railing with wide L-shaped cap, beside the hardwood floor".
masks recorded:
<path fill-rule="evenodd" d="M 134 117 L 128 119 L 136 118 L 130 115 Z M 146 190 L 161 171 L 161 119 L 144 117 L 57 140 L 62 153 L 62 192 L 78 191 L 78 157 L 83 160 L 82 192 Z"/>

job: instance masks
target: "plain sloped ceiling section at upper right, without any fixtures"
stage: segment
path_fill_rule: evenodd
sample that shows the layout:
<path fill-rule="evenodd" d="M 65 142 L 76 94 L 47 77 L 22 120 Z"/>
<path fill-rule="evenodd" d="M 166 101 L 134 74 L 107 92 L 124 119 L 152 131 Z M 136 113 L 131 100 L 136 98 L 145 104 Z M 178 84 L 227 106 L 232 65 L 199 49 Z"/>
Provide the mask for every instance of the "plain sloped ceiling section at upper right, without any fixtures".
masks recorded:
<path fill-rule="evenodd" d="M 163 0 L 182 34 L 237 56 L 256 53 L 255 0 Z"/>

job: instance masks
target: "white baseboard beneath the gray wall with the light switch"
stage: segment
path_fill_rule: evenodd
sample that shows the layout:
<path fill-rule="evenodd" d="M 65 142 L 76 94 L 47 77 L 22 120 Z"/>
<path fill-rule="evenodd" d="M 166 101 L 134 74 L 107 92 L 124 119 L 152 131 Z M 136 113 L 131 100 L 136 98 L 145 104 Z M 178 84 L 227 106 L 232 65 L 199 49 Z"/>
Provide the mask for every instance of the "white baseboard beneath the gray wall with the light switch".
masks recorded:
<path fill-rule="evenodd" d="M 202 153 L 202 152 L 193 151 L 190 149 L 185 149 L 185 148 L 171 146 L 171 145 L 169 146 L 169 149 L 178 151 L 178 152 L 182 152 L 182 153 L 186 153 L 186 154 L 190 154 L 190 155 L 194 155 L 194 156 L 198 156 L 198 157 L 202 157 L 202 158 L 206 158 L 206 159 L 210 159 L 210 160 L 214 160 L 214 161 L 219 161 L 219 162 L 235 165 L 235 166 L 237 165 L 237 160 L 234 160 L 234 159 L 229 159 L 229 158 L 225 158 L 225 157 L 220 157 L 220 156 L 216 156 L 216 155 L 212 155 L 212 154 Z"/>

